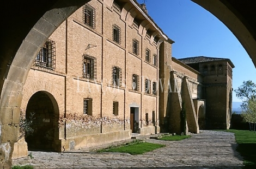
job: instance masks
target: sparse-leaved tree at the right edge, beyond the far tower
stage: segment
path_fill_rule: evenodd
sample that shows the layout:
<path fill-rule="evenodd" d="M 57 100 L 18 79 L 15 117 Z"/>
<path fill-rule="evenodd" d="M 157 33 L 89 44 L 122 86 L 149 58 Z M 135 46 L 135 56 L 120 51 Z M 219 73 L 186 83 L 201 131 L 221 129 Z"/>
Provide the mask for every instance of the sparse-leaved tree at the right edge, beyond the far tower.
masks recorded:
<path fill-rule="evenodd" d="M 249 123 L 249 130 L 254 131 L 256 125 L 256 84 L 251 80 L 243 81 L 243 85 L 235 90 L 236 97 L 242 100 L 242 118 Z"/>

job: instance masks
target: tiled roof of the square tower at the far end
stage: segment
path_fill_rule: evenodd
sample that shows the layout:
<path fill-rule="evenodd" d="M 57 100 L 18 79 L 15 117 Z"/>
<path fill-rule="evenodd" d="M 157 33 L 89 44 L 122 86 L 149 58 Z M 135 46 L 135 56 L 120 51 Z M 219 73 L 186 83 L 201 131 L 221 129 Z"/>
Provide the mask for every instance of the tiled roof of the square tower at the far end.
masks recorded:
<path fill-rule="evenodd" d="M 182 59 L 178 59 L 179 61 L 185 64 L 193 64 L 193 63 L 203 63 L 203 62 L 212 62 L 212 61 L 224 61 L 227 60 L 232 68 L 234 68 L 234 64 L 230 59 L 220 58 L 220 57 L 206 57 L 206 56 L 196 56 L 196 57 L 186 57 Z"/>

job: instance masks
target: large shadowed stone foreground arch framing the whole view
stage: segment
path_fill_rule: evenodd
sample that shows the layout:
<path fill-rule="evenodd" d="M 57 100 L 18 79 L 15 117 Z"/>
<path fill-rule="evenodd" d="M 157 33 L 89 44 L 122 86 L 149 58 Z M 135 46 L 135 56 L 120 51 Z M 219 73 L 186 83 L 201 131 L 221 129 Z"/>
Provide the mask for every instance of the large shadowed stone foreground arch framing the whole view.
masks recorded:
<path fill-rule="evenodd" d="M 0 49 L 0 122 L 3 166 L 10 167 L 14 142 L 18 138 L 22 88 L 33 60 L 47 38 L 76 9 L 89 0 L 4 1 Z M 256 64 L 256 24 L 248 14 L 251 2 L 231 0 L 192 0 L 219 18 L 239 39 Z M 113 0 L 105 0 L 111 3 Z M 236 2 L 239 2 L 236 4 Z M 1 2 L 3 3 L 3 2 Z M 243 4 L 245 3 L 245 4 Z M 246 5 L 247 3 L 247 5 Z M 40 6 L 40 8 L 38 8 Z M 238 10 L 246 7 L 246 11 Z M 248 12 L 249 10 L 251 12 Z M 29 12 L 33 11 L 33 15 Z M 19 25 L 19 27 L 17 27 Z M 28 50 L 29 49 L 29 50 Z"/>

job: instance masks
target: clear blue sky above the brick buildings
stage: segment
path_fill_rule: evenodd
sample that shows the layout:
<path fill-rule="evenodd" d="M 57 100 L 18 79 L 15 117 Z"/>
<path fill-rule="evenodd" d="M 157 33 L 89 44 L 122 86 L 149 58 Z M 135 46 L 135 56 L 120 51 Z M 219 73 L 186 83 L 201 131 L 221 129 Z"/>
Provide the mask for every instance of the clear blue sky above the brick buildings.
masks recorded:
<path fill-rule="evenodd" d="M 137 0 L 143 3 L 143 0 Z M 233 88 L 243 81 L 256 82 L 255 67 L 246 50 L 234 34 L 214 15 L 190 0 L 145 0 L 148 14 L 171 38 L 172 56 L 223 57 L 230 59 Z M 241 101 L 233 91 L 233 101 Z"/>

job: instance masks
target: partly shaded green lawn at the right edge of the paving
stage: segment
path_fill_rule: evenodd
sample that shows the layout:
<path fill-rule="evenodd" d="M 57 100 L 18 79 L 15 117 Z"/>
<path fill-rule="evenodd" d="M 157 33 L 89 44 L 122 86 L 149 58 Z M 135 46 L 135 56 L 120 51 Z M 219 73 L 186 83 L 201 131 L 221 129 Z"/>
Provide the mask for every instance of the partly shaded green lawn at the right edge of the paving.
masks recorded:
<path fill-rule="evenodd" d="M 236 151 L 243 157 L 244 168 L 256 168 L 256 132 L 236 129 L 226 130 L 235 133 L 238 144 Z"/>

